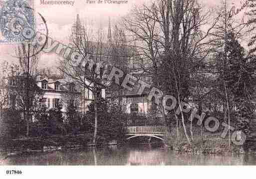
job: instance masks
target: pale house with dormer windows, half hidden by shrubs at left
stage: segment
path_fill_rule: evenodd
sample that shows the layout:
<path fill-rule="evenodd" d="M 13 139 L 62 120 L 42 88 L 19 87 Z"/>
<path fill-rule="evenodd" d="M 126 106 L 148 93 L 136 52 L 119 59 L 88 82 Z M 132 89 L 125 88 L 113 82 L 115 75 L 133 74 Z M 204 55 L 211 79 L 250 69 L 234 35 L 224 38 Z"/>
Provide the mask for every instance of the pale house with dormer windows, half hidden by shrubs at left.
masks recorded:
<path fill-rule="evenodd" d="M 9 89 L 8 108 L 17 109 L 22 112 L 17 101 L 17 97 L 20 95 L 17 94 L 18 90 L 16 90 L 18 88 L 18 79 L 17 77 L 12 76 L 7 80 Z M 40 75 L 37 75 L 36 85 L 39 87 L 40 91 L 40 102 L 44 103 L 48 110 L 61 106 L 64 118 L 66 117 L 68 104 L 74 104 L 79 112 L 85 114 L 88 110 L 88 105 L 93 100 L 92 92 L 86 88 L 81 90 L 79 86 L 75 85 L 72 79 L 65 78 L 52 80 L 47 77 L 41 78 Z M 101 97 L 105 98 L 104 89 L 101 91 Z"/>

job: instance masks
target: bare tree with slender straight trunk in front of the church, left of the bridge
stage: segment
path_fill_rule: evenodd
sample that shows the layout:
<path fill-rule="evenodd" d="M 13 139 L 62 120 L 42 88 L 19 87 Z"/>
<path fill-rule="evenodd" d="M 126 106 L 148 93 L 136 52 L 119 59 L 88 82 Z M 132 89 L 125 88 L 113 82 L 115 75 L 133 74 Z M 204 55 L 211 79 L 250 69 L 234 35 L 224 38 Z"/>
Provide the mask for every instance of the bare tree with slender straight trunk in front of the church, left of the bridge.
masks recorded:
<path fill-rule="evenodd" d="M 91 34 L 92 35 L 92 34 Z M 98 128 L 98 100 L 102 89 L 106 88 L 103 80 L 104 66 L 108 60 L 108 50 L 103 43 L 103 31 L 98 30 L 96 39 L 87 33 L 79 34 L 73 40 L 75 44 L 75 59 L 67 58 L 60 62 L 59 70 L 81 88 L 87 88 L 93 94 L 94 103 L 94 135 L 93 144 L 96 145 Z M 94 40 L 94 41 L 92 41 Z"/>

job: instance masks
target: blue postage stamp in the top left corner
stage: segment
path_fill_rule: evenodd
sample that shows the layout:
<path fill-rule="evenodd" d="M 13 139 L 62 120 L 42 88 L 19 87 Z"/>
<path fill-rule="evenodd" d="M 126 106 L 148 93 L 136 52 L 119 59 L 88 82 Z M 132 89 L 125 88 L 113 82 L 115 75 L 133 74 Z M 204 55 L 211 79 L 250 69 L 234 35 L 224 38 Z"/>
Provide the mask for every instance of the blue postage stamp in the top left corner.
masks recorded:
<path fill-rule="evenodd" d="M 34 34 L 33 0 L 0 0 L 0 43 L 28 43 Z"/>

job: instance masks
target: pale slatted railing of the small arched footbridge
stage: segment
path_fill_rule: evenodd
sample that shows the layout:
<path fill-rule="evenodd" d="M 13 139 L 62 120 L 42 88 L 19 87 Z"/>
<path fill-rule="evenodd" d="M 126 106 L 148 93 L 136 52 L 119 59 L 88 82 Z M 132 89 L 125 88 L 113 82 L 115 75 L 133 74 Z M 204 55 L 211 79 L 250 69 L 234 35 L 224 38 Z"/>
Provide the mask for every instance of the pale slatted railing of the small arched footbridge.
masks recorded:
<path fill-rule="evenodd" d="M 125 128 L 126 134 L 164 134 L 168 131 L 165 126 L 129 126 Z"/>

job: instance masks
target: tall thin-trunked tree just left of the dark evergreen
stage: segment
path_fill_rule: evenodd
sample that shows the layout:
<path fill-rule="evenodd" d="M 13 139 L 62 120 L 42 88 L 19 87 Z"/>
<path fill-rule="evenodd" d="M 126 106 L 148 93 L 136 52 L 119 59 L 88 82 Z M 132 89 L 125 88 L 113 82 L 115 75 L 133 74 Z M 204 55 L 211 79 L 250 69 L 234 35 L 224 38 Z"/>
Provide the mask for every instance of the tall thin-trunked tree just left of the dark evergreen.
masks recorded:
<path fill-rule="evenodd" d="M 216 81 L 219 85 L 219 91 L 222 93 L 224 98 L 222 101 L 224 102 L 224 120 L 229 125 L 229 145 L 231 146 L 231 110 L 232 105 L 231 101 L 234 99 L 234 95 L 230 92 L 230 87 L 228 85 L 229 75 L 229 59 L 228 59 L 228 41 L 232 38 L 240 39 L 242 35 L 242 30 L 245 25 L 236 21 L 232 16 L 228 15 L 228 5 L 225 0 L 224 5 L 219 9 L 218 14 L 220 16 L 220 20 L 215 26 L 215 31 L 212 35 L 212 48 L 211 51 L 216 60 L 216 72 L 218 74 L 218 80 Z"/>

